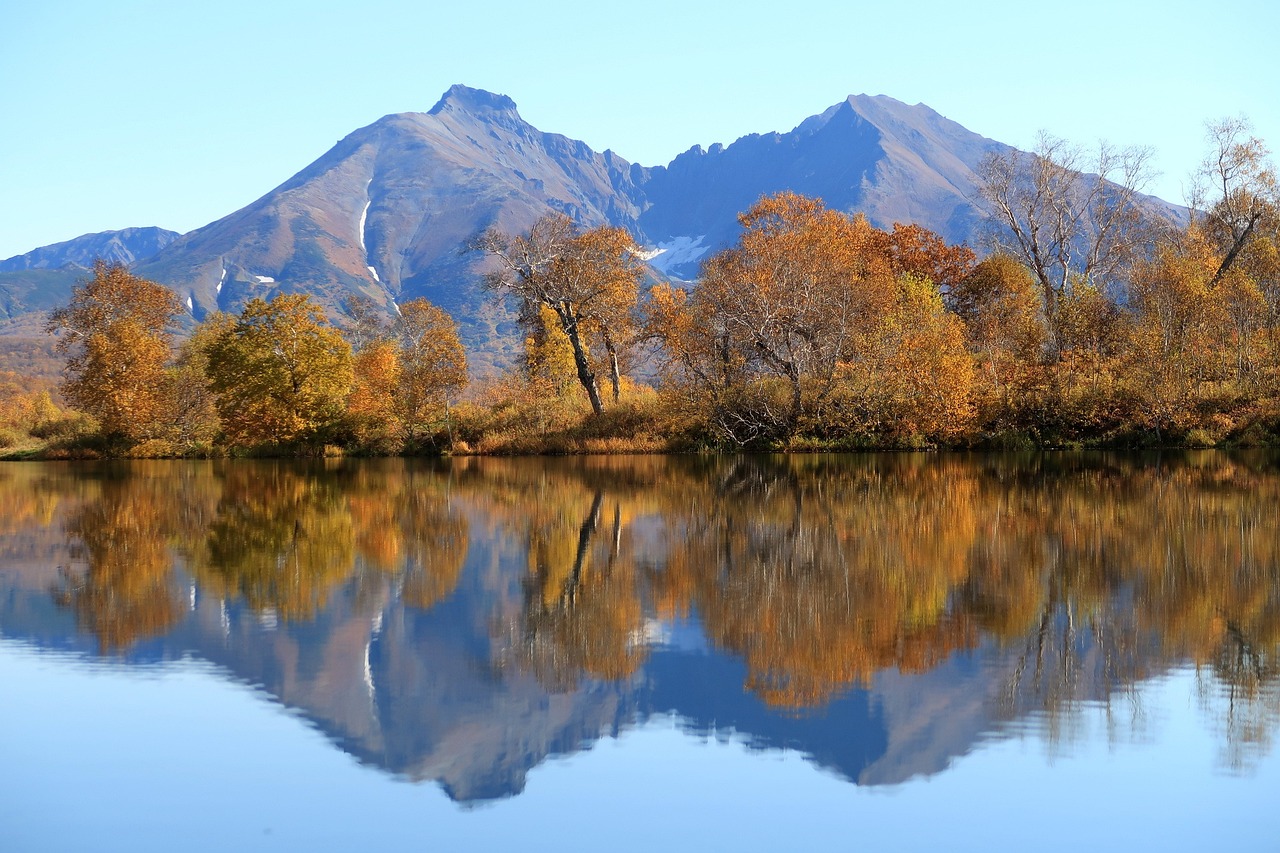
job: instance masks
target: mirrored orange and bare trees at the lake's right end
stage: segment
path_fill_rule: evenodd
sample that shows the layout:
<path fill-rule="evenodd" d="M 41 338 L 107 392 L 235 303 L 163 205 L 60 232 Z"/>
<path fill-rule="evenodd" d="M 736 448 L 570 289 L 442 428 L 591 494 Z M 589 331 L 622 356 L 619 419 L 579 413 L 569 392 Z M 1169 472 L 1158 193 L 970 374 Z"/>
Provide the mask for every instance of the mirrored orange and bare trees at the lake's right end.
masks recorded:
<path fill-rule="evenodd" d="M 975 548 L 960 602 L 1015 653 L 1004 712 L 1047 711 L 1056 726 L 1078 701 L 1180 661 L 1266 702 L 1248 685 L 1276 681 L 1254 662 L 1280 647 L 1277 500 L 1274 473 L 1221 455 L 1024 464 L 986 478 L 980 506 L 1000 523 Z"/>

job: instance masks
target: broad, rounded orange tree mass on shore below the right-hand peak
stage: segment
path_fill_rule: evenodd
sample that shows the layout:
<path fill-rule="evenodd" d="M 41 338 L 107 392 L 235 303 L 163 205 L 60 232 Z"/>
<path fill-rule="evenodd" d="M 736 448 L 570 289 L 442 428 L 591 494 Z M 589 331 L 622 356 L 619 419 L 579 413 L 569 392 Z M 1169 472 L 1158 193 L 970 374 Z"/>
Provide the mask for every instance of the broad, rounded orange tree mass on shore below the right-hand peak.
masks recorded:
<path fill-rule="evenodd" d="M 740 222 L 739 242 L 704 264 L 690 292 L 655 287 L 646 306 L 669 378 L 701 394 L 727 438 L 914 434 L 942 423 L 925 410 L 968 411 L 961 327 L 929 278 L 963 277 L 968 250 L 790 192 Z"/>

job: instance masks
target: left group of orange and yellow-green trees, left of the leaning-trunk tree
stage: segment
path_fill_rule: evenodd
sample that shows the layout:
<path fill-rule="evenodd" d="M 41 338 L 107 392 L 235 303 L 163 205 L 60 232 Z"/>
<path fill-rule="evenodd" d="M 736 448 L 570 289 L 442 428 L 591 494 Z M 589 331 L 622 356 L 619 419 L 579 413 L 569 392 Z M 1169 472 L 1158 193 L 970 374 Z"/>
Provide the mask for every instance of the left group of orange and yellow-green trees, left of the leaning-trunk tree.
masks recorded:
<path fill-rule="evenodd" d="M 100 261 L 47 328 L 68 355 L 63 394 L 96 420 L 108 450 L 392 451 L 431 441 L 466 384 L 453 320 L 425 300 L 398 306 L 393 323 L 366 302 L 351 307 L 361 321 L 344 336 L 306 295 L 255 298 L 175 347 L 177 296 Z"/>

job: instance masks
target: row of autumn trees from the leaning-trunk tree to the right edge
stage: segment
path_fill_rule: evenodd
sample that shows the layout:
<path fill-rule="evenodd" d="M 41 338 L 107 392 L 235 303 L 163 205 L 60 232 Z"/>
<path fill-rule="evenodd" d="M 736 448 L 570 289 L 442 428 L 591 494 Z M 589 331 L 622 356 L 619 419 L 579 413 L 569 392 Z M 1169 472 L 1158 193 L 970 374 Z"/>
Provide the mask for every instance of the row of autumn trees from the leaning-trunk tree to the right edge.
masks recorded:
<path fill-rule="evenodd" d="M 692 287 L 646 298 L 620 229 L 553 215 L 477 247 L 524 306 L 527 382 L 559 339 L 595 414 L 605 365 L 617 401 L 620 364 L 646 364 L 695 434 L 731 444 L 1239 438 L 1280 415 L 1280 190 L 1247 124 L 1210 141 L 1185 220 L 1142 195 L 1149 150 L 992 154 L 982 263 L 790 192 L 745 211 Z"/>

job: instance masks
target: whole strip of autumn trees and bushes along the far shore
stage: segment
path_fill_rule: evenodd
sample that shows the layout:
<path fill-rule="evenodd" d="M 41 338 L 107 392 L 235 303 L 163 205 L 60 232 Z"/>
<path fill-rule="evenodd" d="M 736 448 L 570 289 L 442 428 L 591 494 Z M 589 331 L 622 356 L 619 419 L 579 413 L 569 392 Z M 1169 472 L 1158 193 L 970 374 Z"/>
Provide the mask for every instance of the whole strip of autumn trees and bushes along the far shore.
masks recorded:
<path fill-rule="evenodd" d="M 988 156 L 982 260 L 792 192 L 687 287 L 621 228 L 485 232 L 525 341 L 475 380 L 425 300 L 282 292 L 178 341 L 178 297 L 99 261 L 49 318 L 61 384 L 0 374 L 0 459 L 1280 446 L 1280 190 L 1245 123 L 1208 138 L 1183 222 L 1149 151 Z"/>

